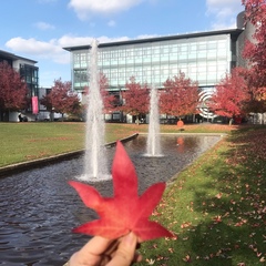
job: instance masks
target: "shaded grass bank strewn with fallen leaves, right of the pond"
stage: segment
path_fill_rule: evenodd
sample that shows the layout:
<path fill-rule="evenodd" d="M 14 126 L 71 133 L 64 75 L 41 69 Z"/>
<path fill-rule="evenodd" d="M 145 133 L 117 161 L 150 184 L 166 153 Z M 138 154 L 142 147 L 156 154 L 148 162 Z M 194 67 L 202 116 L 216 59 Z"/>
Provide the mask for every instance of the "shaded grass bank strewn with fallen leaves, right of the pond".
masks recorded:
<path fill-rule="evenodd" d="M 168 186 L 153 218 L 176 237 L 144 243 L 142 265 L 266 265 L 265 202 L 266 129 L 235 131 Z"/>

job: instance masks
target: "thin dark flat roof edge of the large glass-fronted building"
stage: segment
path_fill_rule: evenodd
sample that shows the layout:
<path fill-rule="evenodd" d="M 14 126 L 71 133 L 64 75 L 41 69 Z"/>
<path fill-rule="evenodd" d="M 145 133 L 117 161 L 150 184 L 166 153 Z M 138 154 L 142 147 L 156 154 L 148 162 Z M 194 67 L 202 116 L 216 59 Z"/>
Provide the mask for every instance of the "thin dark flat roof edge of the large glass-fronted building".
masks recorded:
<path fill-rule="evenodd" d="M 243 29 L 227 29 L 227 30 L 218 30 L 218 31 L 204 31 L 204 32 L 193 32 L 193 33 L 175 34 L 175 35 L 153 37 L 153 38 L 145 38 L 145 39 L 134 39 L 129 41 L 99 43 L 99 48 L 117 47 L 117 45 L 155 42 L 155 41 L 177 40 L 177 39 L 190 39 L 190 38 L 205 37 L 205 35 L 219 35 L 219 34 L 239 35 L 243 31 L 244 31 Z M 88 45 L 66 47 L 63 49 L 71 52 L 75 50 L 88 50 L 90 48 L 91 45 L 88 44 Z"/>

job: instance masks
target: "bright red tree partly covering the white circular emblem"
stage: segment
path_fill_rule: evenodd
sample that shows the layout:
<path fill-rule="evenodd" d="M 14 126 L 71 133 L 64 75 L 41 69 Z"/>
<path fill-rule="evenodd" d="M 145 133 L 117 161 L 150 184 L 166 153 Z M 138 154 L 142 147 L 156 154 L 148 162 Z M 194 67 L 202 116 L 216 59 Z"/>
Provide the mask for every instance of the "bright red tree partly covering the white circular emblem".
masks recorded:
<path fill-rule="evenodd" d="M 241 68 L 232 71 L 216 85 L 216 92 L 208 102 L 208 108 L 226 117 L 241 116 L 245 113 L 248 90 Z"/>

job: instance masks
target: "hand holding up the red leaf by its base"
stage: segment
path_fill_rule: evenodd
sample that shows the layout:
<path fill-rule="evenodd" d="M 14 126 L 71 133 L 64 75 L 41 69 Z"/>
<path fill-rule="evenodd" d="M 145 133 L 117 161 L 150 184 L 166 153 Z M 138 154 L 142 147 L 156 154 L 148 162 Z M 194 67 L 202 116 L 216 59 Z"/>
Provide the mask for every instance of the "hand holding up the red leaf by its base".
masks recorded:
<path fill-rule="evenodd" d="M 130 233 L 117 241 L 94 236 L 65 266 L 129 266 L 141 262 L 136 253 L 137 237 Z"/>

